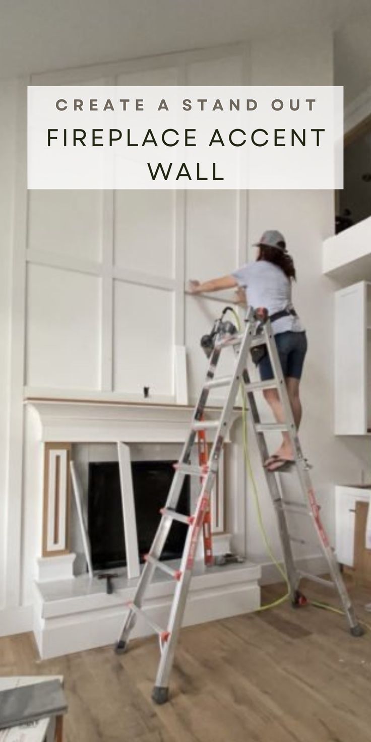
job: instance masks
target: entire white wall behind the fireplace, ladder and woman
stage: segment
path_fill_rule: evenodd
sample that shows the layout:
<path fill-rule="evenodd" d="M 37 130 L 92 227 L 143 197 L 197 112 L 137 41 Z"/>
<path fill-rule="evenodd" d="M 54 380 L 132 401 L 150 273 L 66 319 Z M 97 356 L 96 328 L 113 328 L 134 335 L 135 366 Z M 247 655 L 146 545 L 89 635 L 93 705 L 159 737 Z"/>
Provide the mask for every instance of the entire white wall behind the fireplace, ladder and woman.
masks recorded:
<path fill-rule="evenodd" d="M 182 79 L 223 85 L 240 82 L 328 85 L 332 81 L 332 41 L 329 36 L 321 37 L 318 33 L 315 37 L 297 36 L 295 40 L 289 36 L 275 42 L 270 39 L 269 44 L 253 44 L 249 49 L 237 46 L 229 52 L 223 49 L 191 56 L 167 56 L 157 59 L 156 63 L 139 60 L 129 65 L 68 70 L 60 75 L 50 73 L 37 76 L 34 82 L 72 84 L 76 79 L 85 84 L 99 80 L 111 82 L 112 79 L 134 82 L 134 77 L 136 82 L 137 78 L 145 82 L 148 65 L 151 82 Z M 1 126 L 5 127 L 9 142 L 9 131 L 15 126 L 12 85 L 7 100 Z M 11 148 L 7 146 L 4 154 L 9 177 L 0 196 L 3 234 L 7 235 L 2 240 L 1 252 L 9 269 L 10 184 L 15 162 Z M 0 187 L 4 189 L 5 184 L 1 182 Z M 15 223 L 17 217 L 18 209 Z M 332 435 L 333 286 L 321 272 L 322 240 L 333 229 L 332 194 L 326 191 L 252 191 L 249 194 L 200 191 L 195 197 L 190 191 L 186 196 L 178 193 L 175 197 L 159 193 L 39 192 L 29 194 L 28 217 L 27 326 L 25 338 L 18 338 L 18 341 L 22 344 L 24 339 L 26 349 L 23 378 L 26 392 L 45 395 L 65 393 L 66 396 L 88 397 L 93 393 L 105 393 L 113 397 L 140 398 L 142 386 L 146 384 L 151 387 L 154 399 L 174 399 L 172 348 L 175 343 L 186 344 L 188 348 L 188 381 L 190 395 L 194 397 L 205 371 L 199 348 L 200 335 L 209 330 L 223 304 L 213 298 L 206 301 L 186 296 L 185 280 L 228 273 L 246 260 L 247 246 L 255 242 L 264 229 L 275 227 L 283 231 L 298 267 L 295 304 L 309 333 L 309 357 L 303 379 L 303 447 L 315 464 L 313 478 L 325 506 L 326 525 L 332 534 L 334 483 L 359 482 L 361 471 L 367 467 L 367 443 L 335 439 Z M 22 273 L 22 265 L 17 265 Z M 4 276 L 5 272 L 1 271 L 0 280 L 4 286 L 0 302 L 5 306 L 0 322 L 5 330 L 9 324 L 10 295 Z M 20 306 L 22 311 L 22 302 Z M 22 332 L 22 321 L 18 326 Z M 0 388 L 0 434 L 6 450 L 9 441 L 2 413 L 4 411 L 6 418 L 10 372 L 6 353 L 4 358 L 0 360 L 1 378 L 4 378 Z M 19 374 L 20 370 L 19 366 L 12 369 L 12 375 L 14 371 Z M 17 394 L 21 393 L 20 383 Z M 18 439 L 12 439 L 11 450 L 16 450 L 14 447 L 19 444 L 22 433 L 22 420 L 17 420 Z M 25 448 L 23 494 L 16 485 L 15 490 L 5 491 L 4 496 L 5 470 L 0 461 L 3 502 L 10 509 L 9 522 L 12 513 L 14 515 L 15 531 L 20 529 L 17 502 L 23 496 L 21 571 L 16 568 L 12 574 L 12 549 L 19 554 L 19 543 L 5 544 L 8 547 L 7 581 L 8 585 L 12 582 L 10 586 L 14 588 L 14 605 L 19 590 L 23 604 L 30 603 L 33 563 L 41 550 L 42 465 L 40 449 L 35 444 L 36 423 L 29 416 L 27 431 L 30 433 L 27 433 Z M 252 447 L 255 471 L 256 462 Z M 12 466 L 14 471 L 14 456 Z M 233 495 L 243 497 L 245 484 L 240 461 L 233 464 L 230 482 Z M 258 474 L 257 483 L 266 528 L 277 548 L 272 505 Z M 250 557 L 268 561 L 257 531 L 251 492 L 247 506 L 247 543 Z M 238 546 L 243 548 L 241 537 Z M 13 628 L 16 630 L 16 623 Z"/>

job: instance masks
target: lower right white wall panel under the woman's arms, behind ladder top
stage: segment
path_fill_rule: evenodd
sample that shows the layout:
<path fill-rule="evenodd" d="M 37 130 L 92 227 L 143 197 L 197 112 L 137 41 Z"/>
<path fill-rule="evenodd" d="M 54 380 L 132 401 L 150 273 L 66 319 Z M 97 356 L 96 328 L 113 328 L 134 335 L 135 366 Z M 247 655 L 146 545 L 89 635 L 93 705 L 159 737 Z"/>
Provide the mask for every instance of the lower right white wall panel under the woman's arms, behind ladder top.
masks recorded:
<path fill-rule="evenodd" d="M 208 361 L 203 349 L 200 347 L 202 335 L 210 332 L 214 320 L 220 316 L 223 309 L 223 303 L 204 299 L 200 297 L 188 296 L 185 302 L 185 345 L 187 349 L 187 368 L 188 368 L 188 394 L 189 401 L 194 402 L 200 394 L 201 384 L 205 379 Z M 231 315 L 232 318 L 232 315 Z M 217 375 L 224 376 L 232 373 L 234 366 L 234 353 L 231 349 L 226 349 L 220 356 L 217 366 Z M 213 400 L 225 399 L 226 390 L 214 390 L 210 395 L 210 402 Z"/>

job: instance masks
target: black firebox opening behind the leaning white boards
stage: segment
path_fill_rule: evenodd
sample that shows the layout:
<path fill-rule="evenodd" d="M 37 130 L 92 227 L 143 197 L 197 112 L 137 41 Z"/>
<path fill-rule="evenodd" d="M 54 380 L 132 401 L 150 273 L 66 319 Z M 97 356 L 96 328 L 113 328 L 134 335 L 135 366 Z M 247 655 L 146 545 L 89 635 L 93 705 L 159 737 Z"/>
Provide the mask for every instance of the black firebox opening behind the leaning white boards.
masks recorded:
<path fill-rule="evenodd" d="M 160 508 L 165 505 L 174 461 L 134 461 L 131 474 L 137 520 L 139 560 L 148 554 L 157 525 Z M 191 487 L 185 478 L 177 510 L 190 514 Z M 182 556 L 187 526 L 174 522 L 162 559 Z M 125 534 L 122 518 L 122 495 L 118 462 L 90 462 L 88 471 L 88 534 L 91 542 L 93 569 L 126 566 Z"/>

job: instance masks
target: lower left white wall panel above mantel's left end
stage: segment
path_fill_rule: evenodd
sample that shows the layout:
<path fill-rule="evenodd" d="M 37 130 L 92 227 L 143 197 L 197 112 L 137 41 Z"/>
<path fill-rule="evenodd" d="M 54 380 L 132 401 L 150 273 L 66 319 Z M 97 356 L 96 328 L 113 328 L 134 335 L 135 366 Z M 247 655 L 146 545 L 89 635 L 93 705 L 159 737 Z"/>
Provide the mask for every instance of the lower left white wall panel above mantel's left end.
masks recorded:
<path fill-rule="evenodd" d="M 28 266 L 26 384 L 96 389 L 99 278 Z"/>

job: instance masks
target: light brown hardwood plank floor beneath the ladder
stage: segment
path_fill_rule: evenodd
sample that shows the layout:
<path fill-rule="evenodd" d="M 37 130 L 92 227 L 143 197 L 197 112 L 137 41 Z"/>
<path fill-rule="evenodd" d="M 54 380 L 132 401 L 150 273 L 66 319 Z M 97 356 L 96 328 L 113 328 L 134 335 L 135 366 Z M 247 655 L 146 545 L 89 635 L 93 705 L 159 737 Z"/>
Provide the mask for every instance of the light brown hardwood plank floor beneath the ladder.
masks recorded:
<path fill-rule="evenodd" d="M 264 601 L 283 590 L 265 588 Z M 370 591 L 350 591 L 371 624 Z M 310 594 L 329 600 L 317 586 Z M 105 647 L 42 662 L 31 634 L 5 637 L 0 674 L 64 675 L 65 742 L 368 742 L 370 637 L 351 637 L 338 614 L 289 603 L 184 628 L 165 706 L 151 701 L 154 638 L 121 656 Z"/>

